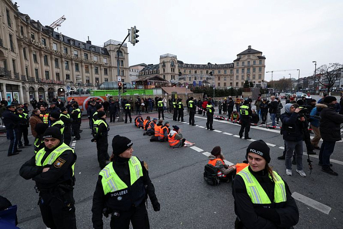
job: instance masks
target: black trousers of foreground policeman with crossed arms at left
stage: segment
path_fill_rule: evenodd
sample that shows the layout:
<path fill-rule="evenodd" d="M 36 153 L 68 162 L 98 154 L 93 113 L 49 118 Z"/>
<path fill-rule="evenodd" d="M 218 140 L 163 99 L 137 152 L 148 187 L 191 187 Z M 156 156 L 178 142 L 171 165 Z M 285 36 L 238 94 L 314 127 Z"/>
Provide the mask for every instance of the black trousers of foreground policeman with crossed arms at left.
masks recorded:
<path fill-rule="evenodd" d="M 76 229 L 73 191 L 39 193 L 39 208 L 44 224 L 50 229 Z"/>

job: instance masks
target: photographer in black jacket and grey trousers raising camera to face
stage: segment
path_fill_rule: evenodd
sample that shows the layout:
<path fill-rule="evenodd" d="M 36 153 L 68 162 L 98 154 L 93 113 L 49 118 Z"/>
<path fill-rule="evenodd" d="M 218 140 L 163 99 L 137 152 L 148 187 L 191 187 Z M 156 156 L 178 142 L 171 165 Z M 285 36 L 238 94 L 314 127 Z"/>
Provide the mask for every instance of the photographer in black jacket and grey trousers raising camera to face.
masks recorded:
<path fill-rule="evenodd" d="M 304 122 L 305 117 L 300 115 L 301 108 L 295 108 L 294 104 L 287 103 L 284 106 L 285 113 L 281 114 L 281 134 L 286 144 L 285 165 L 286 174 L 292 175 L 291 158 L 293 152 L 296 155 L 296 171 L 302 176 L 306 177 L 303 170 L 303 138 L 304 138 Z"/>

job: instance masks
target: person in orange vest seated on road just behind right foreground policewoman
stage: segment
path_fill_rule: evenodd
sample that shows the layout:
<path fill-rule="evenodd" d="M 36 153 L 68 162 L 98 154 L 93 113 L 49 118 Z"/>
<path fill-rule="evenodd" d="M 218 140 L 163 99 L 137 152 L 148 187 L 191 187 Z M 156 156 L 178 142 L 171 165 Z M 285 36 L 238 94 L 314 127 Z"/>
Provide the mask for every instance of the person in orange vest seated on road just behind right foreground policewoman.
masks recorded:
<path fill-rule="evenodd" d="M 229 166 L 224 163 L 224 160 L 224 155 L 221 153 L 220 146 L 215 146 L 209 156 L 208 164 L 218 167 L 217 176 L 222 182 L 229 182 L 231 177 L 229 174 L 234 174 L 236 166 L 234 164 Z"/>

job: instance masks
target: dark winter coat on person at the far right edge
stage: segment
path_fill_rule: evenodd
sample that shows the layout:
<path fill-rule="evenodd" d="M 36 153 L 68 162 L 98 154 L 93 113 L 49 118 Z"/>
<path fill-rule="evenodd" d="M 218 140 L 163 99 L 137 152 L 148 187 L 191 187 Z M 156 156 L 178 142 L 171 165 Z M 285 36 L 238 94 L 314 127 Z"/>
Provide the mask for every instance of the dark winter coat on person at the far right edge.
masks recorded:
<path fill-rule="evenodd" d="M 319 130 L 321 138 L 324 141 L 340 141 L 341 138 L 341 123 L 343 123 L 343 115 L 335 111 L 335 106 L 323 103 L 325 105 L 320 111 Z"/>

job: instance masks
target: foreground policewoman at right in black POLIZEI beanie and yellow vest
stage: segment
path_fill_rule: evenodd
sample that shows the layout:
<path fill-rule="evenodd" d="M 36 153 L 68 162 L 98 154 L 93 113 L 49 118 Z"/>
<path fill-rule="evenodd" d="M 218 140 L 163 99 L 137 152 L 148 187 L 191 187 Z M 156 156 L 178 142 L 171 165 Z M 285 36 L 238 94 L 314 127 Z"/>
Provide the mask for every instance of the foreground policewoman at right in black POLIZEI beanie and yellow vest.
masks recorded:
<path fill-rule="evenodd" d="M 298 207 L 287 183 L 269 167 L 269 151 L 262 140 L 248 146 L 249 166 L 236 174 L 232 188 L 235 229 L 290 229 L 299 221 Z"/>

